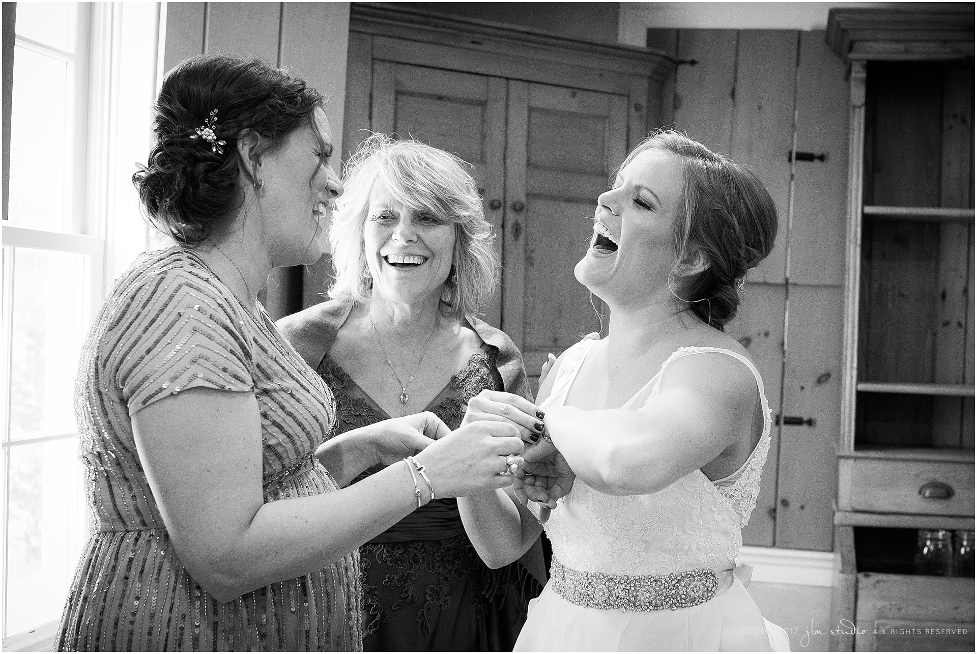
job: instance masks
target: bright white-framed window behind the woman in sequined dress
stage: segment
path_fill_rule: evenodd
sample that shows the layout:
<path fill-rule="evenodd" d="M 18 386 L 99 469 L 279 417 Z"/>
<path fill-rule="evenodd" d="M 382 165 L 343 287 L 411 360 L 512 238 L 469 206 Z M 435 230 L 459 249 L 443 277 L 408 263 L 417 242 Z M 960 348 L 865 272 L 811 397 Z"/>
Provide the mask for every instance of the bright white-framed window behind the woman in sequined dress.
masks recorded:
<path fill-rule="evenodd" d="M 50 647 L 88 537 L 74 377 L 104 289 L 147 241 L 129 176 L 149 152 L 158 15 L 4 3 L 4 649 Z"/>

